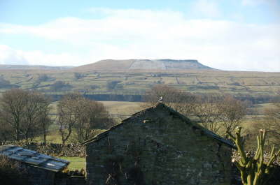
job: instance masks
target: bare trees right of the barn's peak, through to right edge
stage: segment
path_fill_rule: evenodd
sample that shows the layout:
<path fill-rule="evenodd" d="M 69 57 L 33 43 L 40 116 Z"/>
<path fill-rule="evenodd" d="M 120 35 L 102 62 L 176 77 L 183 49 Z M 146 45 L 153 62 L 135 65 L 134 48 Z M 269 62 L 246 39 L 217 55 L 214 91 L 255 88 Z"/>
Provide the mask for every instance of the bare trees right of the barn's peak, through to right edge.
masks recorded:
<path fill-rule="evenodd" d="M 278 96 L 280 98 L 280 91 Z M 159 97 L 162 97 L 165 105 L 197 120 L 204 128 L 225 138 L 233 134 L 237 126 L 241 126 L 252 106 L 251 101 L 241 101 L 231 95 L 190 94 L 165 85 L 157 85 L 147 91 L 144 106 L 154 105 Z M 253 124 L 244 129 L 242 134 L 246 136 L 246 147 L 250 148 L 259 129 L 265 128 L 269 133 L 267 145 L 280 148 L 280 101 L 274 101 L 272 105 L 265 108 L 262 117 L 253 117 Z"/>

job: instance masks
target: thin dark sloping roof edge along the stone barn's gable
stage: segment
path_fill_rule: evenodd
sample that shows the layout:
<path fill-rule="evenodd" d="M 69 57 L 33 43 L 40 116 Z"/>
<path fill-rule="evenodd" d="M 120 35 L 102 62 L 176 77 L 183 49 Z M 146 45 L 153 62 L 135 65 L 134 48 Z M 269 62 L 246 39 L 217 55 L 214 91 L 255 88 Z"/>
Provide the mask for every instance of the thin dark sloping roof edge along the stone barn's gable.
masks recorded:
<path fill-rule="evenodd" d="M 232 147 L 232 148 L 236 149 L 235 145 L 233 145 L 231 140 L 226 140 L 225 138 L 222 138 L 220 135 L 216 135 L 216 133 L 213 133 L 212 131 L 209 131 L 208 129 L 204 128 L 203 126 L 200 126 L 200 124 L 194 123 L 193 121 L 188 119 L 188 117 L 185 117 L 183 114 L 180 114 L 176 110 L 173 110 L 172 108 L 168 107 L 164 103 L 157 103 L 157 104 L 155 104 L 155 106 L 153 106 L 151 108 L 147 108 L 146 110 L 141 110 L 140 112 L 132 114 L 131 117 L 129 117 L 127 119 L 124 119 L 120 124 L 117 124 L 116 126 L 111 127 L 109 130 L 104 131 L 103 133 L 100 133 L 100 134 L 94 136 L 90 140 L 86 140 L 81 145 L 87 145 L 90 142 L 96 142 L 98 140 L 101 140 L 102 138 L 105 138 L 111 131 L 113 131 L 114 129 L 116 129 L 120 126 L 123 126 L 123 124 L 127 124 L 127 122 L 130 119 L 134 119 L 134 117 L 137 117 L 139 114 L 144 114 L 144 112 L 147 112 L 147 111 L 150 111 L 150 110 L 153 110 L 153 109 L 157 110 L 157 109 L 161 109 L 161 108 L 166 108 L 167 110 L 169 110 L 170 114 L 172 114 L 174 117 L 178 117 L 179 119 L 185 121 L 186 124 L 192 125 L 194 129 L 199 129 L 200 131 L 202 131 L 202 134 L 207 135 L 209 138 L 213 138 L 214 140 L 216 140 L 216 141 L 218 141 L 222 144 L 225 144 L 228 147 Z"/>

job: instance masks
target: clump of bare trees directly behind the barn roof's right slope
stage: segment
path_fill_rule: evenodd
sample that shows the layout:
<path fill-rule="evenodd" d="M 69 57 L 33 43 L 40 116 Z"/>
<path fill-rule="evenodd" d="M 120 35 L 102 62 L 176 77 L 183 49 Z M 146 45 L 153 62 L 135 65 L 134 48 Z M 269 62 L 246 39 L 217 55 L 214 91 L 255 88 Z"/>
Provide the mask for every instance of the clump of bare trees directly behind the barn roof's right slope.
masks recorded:
<path fill-rule="evenodd" d="M 247 103 L 232 96 L 219 94 L 193 95 L 173 87 L 157 85 L 146 92 L 144 106 L 154 105 L 162 97 L 165 105 L 181 114 L 195 116 L 205 128 L 218 133 L 221 128 L 225 133 L 232 132 L 245 116 Z M 227 134 L 225 134 L 228 137 Z"/>

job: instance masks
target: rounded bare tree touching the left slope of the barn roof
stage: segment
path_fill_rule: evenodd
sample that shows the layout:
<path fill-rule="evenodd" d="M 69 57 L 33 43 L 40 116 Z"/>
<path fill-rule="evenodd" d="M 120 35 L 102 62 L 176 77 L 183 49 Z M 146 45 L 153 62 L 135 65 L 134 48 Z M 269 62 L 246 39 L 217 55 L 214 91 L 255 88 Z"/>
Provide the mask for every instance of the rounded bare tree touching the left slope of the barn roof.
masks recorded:
<path fill-rule="evenodd" d="M 91 138 L 97 128 L 108 128 L 113 124 L 113 119 L 102 103 L 88 100 L 79 94 L 64 96 L 57 108 L 62 144 L 65 144 L 73 131 L 76 131 L 78 142 L 83 142 Z"/>

